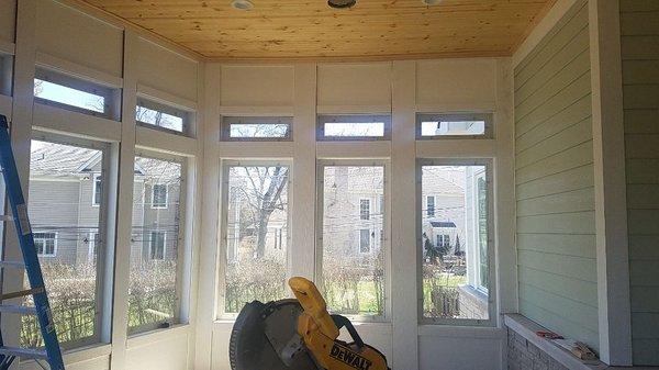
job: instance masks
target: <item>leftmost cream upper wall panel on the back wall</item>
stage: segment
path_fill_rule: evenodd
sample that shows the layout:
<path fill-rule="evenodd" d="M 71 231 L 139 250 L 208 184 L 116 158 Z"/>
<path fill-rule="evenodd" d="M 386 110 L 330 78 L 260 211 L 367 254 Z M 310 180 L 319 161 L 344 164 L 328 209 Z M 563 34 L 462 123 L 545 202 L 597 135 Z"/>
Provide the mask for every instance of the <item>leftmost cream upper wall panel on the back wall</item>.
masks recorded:
<path fill-rule="evenodd" d="M 221 104 L 292 106 L 293 66 L 222 66 Z"/>

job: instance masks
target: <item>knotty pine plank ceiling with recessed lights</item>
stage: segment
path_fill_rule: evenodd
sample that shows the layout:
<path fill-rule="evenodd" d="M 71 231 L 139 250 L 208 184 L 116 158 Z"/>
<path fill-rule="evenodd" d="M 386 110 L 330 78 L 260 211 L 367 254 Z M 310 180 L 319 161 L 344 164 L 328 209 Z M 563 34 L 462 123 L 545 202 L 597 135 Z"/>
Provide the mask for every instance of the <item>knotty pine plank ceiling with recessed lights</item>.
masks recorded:
<path fill-rule="evenodd" d="M 208 59 L 511 55 L 556 0 L 83 0 Z"/>

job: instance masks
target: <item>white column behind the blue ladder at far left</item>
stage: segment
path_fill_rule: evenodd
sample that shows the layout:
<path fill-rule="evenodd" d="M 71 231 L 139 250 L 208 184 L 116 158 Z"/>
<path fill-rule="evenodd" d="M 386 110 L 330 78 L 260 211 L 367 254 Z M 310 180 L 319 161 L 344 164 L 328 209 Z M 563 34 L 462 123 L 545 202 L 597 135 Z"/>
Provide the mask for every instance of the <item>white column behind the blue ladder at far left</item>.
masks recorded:
<path fill-rule="evenodd" d="M 11 145 L 21 188 L 25 202 L 29 201 L 30 179 L 30 141 L 32 138 L 32 104 L 34 102 L 34 56 L 36 51 L 36 1 L 21 0 L 18 2 L 16 12 L 16 48 L 14 56 L 13 79 L 13 106 L 11 122 Z M 7 202 L 5 202 L 7 203 Z M 5 213 L 11 213 L 9 203 L 4 206 Z M 13 224 L 5 223 L 4 259 L 22 260 L 21 248 Z M 2 271 L 2 291 L 15 292 L 23 289 L 22 270 L 5 269 Z M 2 316 L 2 335 L 4 344 L 16 346 L 21 333 L 21 321 L 18 315 Z M 14 365 L 13 368 L 18 368 Z"/>

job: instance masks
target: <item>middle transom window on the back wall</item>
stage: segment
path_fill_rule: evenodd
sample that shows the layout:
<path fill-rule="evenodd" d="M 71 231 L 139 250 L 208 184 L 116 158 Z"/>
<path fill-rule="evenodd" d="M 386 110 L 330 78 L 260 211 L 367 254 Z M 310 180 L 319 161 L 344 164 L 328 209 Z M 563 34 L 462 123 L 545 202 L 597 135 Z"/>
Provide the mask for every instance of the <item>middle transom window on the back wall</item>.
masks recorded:
<path fill-rule="evenodd" d="M 389 139 L 391 116 L 389 115 L 320 115 L 320 141 L 342 139 Z"/>

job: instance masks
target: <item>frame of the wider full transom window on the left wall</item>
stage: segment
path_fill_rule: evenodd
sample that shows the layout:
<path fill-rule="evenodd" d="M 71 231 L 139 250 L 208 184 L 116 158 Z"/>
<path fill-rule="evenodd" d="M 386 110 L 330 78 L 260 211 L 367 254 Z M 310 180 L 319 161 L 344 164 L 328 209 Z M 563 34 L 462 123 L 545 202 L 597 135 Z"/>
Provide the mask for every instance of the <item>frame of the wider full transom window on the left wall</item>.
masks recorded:
<path fill-rule="evenodd" d="M 48 70 L 45 68 L 36 68 L 35 79 L 40 79 L 43 81 L 47 81 L 51 83 L 59 85 L 69 89 L 91 93 L 94 96 L 99 96 L 103 98 L 103 112 L 97 112 L 90 109 L 86 109 L 82 106 L 69 105 L 66 103 L 60 103 L 57 101 L 34 97 L 34 101 L 44 104 L 51 105 L 59 109 L 64 109 L 67 111 L 83 113 L 93 116 L 100 116 L 109 120 L 120 121 L 121 113 L 119 112 L 119 101 L 121 101 L 121 90 L 114 89 L 110 87 L 105 87 L 99 83 L 90 82 L 82 80 L 77 77 L 71 77 L 62 72 L 56 72 L 53 70 Z"/>

